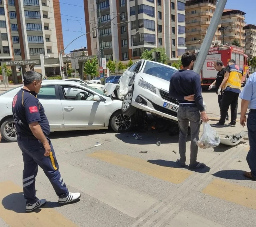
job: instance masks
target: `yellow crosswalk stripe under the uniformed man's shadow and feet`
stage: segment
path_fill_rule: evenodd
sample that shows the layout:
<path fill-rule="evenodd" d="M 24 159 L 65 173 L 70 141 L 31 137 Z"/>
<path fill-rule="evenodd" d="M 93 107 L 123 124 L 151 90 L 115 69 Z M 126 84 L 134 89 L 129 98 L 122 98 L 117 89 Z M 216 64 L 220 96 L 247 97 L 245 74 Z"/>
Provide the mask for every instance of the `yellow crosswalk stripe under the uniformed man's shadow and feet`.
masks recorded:
<path fill-rule="evenodd" d="M 12 181 L 0 182 L 0 217 L 9 226 L 68 226 L 77 227 L 62 214 L 51 208 L 38 208 L 40 212 L 25 213 L 26 201 L 22 188 Z"/>

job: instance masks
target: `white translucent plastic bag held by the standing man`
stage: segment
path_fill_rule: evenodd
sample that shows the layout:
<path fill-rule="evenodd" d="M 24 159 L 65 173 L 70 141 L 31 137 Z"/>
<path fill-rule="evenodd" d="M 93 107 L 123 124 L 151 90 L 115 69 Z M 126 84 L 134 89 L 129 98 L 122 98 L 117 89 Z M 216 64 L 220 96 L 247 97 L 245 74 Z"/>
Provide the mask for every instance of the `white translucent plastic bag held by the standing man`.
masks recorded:
<path fill-rule="evenodd" d="M 197 142 L 197 146 L 199 146 L 201 149 L 207 149 L 217 147 L 219 145 L 219 134 L 211 127 L 209 123 L 203 122 L 203 134 Z"/>

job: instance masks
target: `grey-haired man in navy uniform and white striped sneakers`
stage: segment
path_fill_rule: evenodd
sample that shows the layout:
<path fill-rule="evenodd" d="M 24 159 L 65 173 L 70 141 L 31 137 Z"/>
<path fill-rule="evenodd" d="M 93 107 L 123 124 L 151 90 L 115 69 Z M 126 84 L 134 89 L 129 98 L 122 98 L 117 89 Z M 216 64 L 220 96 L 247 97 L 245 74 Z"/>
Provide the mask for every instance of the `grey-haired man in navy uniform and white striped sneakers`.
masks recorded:
<path fill-rule="evenodd" d="M 14 96 L 12 102 L 12 113 L 18 133 L 17 141 L 24 162 L 23 192 L 26 212 L 31 212 L 46 203 L 45 199 L 39 200 L 36 197 L 35 179 L 38 165 L 53 185 L 60 204 L 74 202 L 81 196 L 80 193 L 69 193 L 59 172 L 55 152 L 48 138 L 49 121 L 37 99 L 41 84 L 42 76 L 38 72 L 26 72 L 24 87 Z"/>

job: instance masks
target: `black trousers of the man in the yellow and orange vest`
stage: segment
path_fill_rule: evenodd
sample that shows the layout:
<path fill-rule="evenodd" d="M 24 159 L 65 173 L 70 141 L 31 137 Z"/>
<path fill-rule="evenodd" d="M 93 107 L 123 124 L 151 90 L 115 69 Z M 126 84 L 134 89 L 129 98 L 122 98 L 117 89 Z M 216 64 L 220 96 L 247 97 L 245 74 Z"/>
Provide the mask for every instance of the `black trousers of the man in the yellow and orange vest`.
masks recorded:
<path fill-rule="evenodd" d="M 238 106 L 239 93 L 226 91 L 223 93 L 220 113 L 220 124 L 225 124 L 227 111 L 230 106 L 231 112 L 231 125 L 236 125 L 237 120 L 237 106 Z"/>

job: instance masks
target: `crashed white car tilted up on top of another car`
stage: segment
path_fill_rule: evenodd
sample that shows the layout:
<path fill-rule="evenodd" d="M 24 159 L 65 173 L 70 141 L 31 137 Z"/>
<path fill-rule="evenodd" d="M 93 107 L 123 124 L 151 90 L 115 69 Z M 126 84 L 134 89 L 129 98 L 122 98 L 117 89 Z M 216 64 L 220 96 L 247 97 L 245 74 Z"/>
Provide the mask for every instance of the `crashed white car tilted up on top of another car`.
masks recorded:
<path fill-rule="evenodd" d="M 118 97 L 126 94 L 123 97 L 122 112 L 132 116 L 137 109 L 141 109 L 178 121 L 178 102 L 169 96 L 169 82 L 175 72 L 176 68 L 158 62 L 141 60 L 134 63 L 119 81 L 121 91 Z"/>

